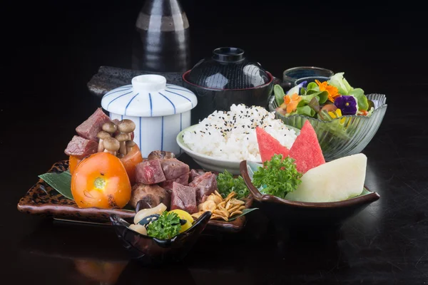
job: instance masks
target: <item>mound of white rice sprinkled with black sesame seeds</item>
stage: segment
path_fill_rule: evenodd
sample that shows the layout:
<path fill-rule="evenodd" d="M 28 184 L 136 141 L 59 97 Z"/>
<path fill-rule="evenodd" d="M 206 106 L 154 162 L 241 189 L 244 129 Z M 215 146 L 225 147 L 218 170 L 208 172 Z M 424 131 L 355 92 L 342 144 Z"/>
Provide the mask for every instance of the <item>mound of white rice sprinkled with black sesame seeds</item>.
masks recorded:
<path fill-rule="evenodd" d="M 267 133 L 288 149 L 296 139 L 295 130 L 287 128 L 275 114 L 262 107 L 232 105 L 229 112 L 215 111 L 202 120 L 183 140 L 191 150 L 225 160 L 261 161 L 255 127 Z"/>

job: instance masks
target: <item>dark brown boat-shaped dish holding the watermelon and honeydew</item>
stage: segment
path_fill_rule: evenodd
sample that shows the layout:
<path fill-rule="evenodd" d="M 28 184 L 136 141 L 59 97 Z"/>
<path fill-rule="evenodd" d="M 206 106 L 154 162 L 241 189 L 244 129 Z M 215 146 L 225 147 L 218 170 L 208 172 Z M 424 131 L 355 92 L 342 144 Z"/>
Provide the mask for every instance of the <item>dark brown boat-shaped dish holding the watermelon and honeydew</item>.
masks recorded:
<path fill-rule="evenodd" d="M 245 185 L 267 217 L 288 227 L 307 229 L 340 227 L 347 219 L 379 199 L 377 192 L 372 192 L 367 187 L 357 197 L 338 202 L 297 202 L 273 195 L 263 195 L 252 182 L 253 173 L 261 166 L 263 165 L 260 163 L 246 160 L 240 162 L 240 172 Z"/>

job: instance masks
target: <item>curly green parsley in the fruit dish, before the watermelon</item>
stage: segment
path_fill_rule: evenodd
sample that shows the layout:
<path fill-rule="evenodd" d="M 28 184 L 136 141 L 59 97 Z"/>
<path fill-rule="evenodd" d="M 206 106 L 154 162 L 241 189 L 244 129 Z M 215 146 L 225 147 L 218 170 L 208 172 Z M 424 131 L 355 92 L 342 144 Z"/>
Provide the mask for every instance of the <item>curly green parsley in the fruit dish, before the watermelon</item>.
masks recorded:
<path fill-rule="evenodd" d="M 274 155 L 263 166 L 253 174 L 253 185 L 263 187 L 263 194 L 284 198 L 302 182 L 302 173 L 297 171 L 295 160 L 291 157 L 282 160 L 282 155 Z"/>

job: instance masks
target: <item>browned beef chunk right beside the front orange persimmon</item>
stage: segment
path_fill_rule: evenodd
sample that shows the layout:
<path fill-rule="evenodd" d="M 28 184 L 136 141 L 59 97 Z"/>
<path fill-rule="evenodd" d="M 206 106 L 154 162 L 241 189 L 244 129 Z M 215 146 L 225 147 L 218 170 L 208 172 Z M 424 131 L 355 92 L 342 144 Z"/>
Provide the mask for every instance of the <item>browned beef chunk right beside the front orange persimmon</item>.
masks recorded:
<path fill-rule="evenodd" d="M 165 204 L 165 206 L 169 208 L 170 199 L 170 193 L 159 185 L 146 185 L 143 183 L 137 183 L 132 187 L 129 204 L 136 208 L 138 201 L 143 200 L 152 208 L 158 206 L 158 204 L 161 203 Z"/>

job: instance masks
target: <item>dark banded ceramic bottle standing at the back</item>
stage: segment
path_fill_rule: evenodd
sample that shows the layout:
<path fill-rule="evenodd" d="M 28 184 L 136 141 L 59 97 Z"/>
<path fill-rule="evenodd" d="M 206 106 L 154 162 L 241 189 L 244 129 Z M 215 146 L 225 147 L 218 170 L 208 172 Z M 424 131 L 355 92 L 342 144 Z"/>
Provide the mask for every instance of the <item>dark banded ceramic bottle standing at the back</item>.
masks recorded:
<path fill-rule="evenodd" d="M 149 72 L 190 69 L 189 22 L 178 0 L 146 0 L 136 21 L 132 68 Z"/>

